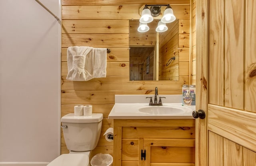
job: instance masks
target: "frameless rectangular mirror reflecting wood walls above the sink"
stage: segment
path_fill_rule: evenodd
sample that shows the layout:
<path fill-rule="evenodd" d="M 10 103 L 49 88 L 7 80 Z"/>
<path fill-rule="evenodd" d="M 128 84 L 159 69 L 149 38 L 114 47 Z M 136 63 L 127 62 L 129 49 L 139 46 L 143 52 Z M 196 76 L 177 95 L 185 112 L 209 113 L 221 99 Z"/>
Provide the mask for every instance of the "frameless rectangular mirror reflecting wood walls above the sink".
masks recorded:
<path fill-rule="evenodd" d="M 149 31 L 138 32 L 139 20 L 130 20 L 130 80 L 179 79 L 178 19 L 156 32 L 159 20 L 148 23 Z"/>

